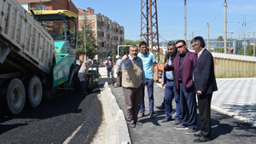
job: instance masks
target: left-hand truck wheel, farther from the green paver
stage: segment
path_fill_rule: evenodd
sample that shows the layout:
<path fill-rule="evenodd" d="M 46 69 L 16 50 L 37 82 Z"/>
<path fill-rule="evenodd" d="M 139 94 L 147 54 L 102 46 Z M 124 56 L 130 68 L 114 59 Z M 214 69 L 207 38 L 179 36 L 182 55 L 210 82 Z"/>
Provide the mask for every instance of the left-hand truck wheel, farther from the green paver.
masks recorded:
<path fill-rule="evenodd" d="M 6 95 L 9 111 L 13 114 L 19 114 L 25 105 L 26 93 L 25 88 L 19 78 L 11 80 Z"/>

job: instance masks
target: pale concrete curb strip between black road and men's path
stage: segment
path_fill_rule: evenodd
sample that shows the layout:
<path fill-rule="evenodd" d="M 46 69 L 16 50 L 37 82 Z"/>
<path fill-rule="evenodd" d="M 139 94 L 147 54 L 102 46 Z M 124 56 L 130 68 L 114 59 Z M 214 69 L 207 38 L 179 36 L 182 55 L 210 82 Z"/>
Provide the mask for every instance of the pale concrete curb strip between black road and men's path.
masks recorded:
<path fill-rule="evenodd" d="M 131 144 L 131 138 L 123 111 L 119 108 L 111 89 L 106 82 L 102 95 L 102 109 L 106 119 L 106 144 Z"/>

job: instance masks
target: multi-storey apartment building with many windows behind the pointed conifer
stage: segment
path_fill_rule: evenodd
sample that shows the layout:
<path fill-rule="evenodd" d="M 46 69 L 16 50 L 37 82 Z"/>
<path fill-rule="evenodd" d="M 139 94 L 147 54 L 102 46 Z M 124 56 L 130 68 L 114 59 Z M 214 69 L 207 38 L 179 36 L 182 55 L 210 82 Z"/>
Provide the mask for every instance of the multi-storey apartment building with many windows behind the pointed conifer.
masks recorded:
<path fill-rule="evenodd" d="M 92 32 L 97 40 L 97 60 L 103 60 L 110 55 L 112 49 L 117 50 L 118 45 L 125 44 L 124 26 L 110 20 L 103 14 L 94 14 L 94 9 L 79 9 L 79 30 L 84 26 L 84 19 L 90 23 Z"/>

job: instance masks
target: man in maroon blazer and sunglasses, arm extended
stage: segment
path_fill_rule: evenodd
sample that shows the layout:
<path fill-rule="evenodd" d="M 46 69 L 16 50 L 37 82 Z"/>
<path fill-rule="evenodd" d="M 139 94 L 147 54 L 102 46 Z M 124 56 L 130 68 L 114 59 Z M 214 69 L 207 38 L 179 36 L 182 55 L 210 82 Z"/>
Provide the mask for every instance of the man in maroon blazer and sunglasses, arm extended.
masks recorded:
<path fill-rule="evenodd" d="M 176 130 L 187 130 L 186 134 L 193 134 L 196 129 L 196 101 L 195 89 L 193 86 L 193 68 L 197 60 L 197 55 L 188 50 L 188 45 L 184 40 L 176 42 L 179 53 L 172 65 L 169 60 L 165 63 L 165 71 L 175 72 L 175 86 L 179 89 L 181 107 L 183 112 L 182 123 L 175 127 Z"/>

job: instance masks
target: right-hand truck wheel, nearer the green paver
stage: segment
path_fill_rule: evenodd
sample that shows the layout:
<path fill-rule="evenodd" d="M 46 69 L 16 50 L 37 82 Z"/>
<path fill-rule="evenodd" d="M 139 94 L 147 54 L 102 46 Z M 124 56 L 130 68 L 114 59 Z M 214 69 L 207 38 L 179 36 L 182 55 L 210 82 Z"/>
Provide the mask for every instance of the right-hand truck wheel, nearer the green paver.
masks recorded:
<path fill-rule="evenodd" d="M 38 107 L 43 97 L 43 87 L 40 78 L 33 76 L 27 88 L 27 95 L 32 107 Z"/>

